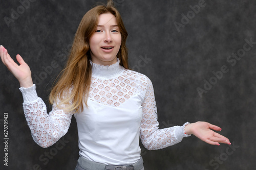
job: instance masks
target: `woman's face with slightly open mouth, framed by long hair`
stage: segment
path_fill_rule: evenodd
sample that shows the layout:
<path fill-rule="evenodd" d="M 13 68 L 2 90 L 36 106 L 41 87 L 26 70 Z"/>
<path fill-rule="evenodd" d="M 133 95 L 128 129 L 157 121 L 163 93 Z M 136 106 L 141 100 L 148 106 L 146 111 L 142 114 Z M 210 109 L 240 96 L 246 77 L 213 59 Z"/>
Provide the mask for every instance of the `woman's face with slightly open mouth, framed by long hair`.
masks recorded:
<path fill-rule="evenodd" d="M 121 46 L 121 33 L 113 14 L 99 15 L 97 29 L 90 38 L 89 44 L 93 63 L 100 65 L 116 63 L 116 55 Z"/>

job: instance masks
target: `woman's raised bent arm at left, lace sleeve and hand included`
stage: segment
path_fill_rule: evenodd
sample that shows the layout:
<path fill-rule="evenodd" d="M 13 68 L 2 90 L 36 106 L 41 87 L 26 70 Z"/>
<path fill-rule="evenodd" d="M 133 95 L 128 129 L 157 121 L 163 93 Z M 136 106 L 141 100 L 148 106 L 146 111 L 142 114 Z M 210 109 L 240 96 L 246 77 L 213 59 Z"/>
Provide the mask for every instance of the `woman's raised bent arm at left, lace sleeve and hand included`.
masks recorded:
<path fill-rule="evenodd" d="M 16 56 L 20 65 L 16 64 L 2 45 L 0 57 L 19 81 L 24 98 L 24 113 L 34 141 L 41 147 L 49 147 L 67 133 L 72 114 L 58 109 L 56 104 L 53 104 L 53 110 L 48 115 L 45 103 L 36 94 L 28 64 L 20 55 Z"/>

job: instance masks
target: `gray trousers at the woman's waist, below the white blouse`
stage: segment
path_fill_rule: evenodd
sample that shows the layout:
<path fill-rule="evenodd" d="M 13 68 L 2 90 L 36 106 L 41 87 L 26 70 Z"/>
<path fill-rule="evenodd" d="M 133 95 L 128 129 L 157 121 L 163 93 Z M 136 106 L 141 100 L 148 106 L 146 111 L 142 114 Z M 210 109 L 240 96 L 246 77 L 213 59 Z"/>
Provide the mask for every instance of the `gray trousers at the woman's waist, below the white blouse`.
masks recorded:
<path fill-rule="evenodd" d="M 144 170 L 144 166 L 143 166 L 143 159 L 142 157 L 140 157 L 140 160 L 137 161 L 136 163 L 132 164 L 134 168 L 132 168 L 133 170 Z M 77 165 L 75 170 L 109 170 L 112 169 L 113 170 L 126 170 L 126 169 L 131 169 L 131 165 L 126 165 L 126 166 L 117 166 L 117 165 L 113 165 L 113 166 L 109 166 L 109 165 L 105 165 L 102 163 L 97 163 L 97 162 L 92 162 L 90 160 L 84 159 L 81 156 L 79 157 L 78 161 L 77 161 Z"/>

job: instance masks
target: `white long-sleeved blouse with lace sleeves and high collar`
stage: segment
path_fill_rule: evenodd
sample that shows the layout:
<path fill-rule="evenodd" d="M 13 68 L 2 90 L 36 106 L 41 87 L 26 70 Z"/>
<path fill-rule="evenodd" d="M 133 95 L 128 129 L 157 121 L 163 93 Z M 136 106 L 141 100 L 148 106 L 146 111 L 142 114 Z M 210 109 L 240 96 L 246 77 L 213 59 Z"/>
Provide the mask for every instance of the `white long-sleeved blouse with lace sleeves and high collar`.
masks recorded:
<path fill-rule="evenodd" d="M 124 165 L 140 159 L 139 138 L 148 150 L 176 144 L 185 136 L 184 126 L 159 129 L 152 83 L 146 76 L 117 63 L 101 66 L 92 63 L 92 82 L 88 107 L 75 113 L 79 155 L 91 161 Z M 47 148 L 65 135 L 72 113 L 53 104 L 47 114 L 35 85 L 19 88 L 23 108 L 34 141 Z"/>

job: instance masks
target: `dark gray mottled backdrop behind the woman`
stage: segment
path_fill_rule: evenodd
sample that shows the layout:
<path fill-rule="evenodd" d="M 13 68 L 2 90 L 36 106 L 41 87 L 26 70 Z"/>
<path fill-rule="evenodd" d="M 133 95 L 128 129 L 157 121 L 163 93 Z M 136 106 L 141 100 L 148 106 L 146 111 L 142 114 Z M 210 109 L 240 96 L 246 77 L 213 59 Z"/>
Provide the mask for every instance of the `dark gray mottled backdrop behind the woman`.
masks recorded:
<path fill-rule="evenodd" d="M 189 6 L 200 1 L 115 2 L 129 32 L 130 66 L 153 82 L 160 128 L 203 120 L 221 126 L 221 134 L 237 146 L 230 153 L 228 145 L 209 145 L 195 136 L 158 151 L 141 146 L 145 169 L 253 169 L 256 44 L 235 65 L 231 65 L 234 58 L 230 58 L 231 63 L 227 59 L 241 52 L 245 39 L 256 41 L 256 2 L 206 0 L 195 16 Z M 31 0 L 26 9 L 19 1 L 0 2 L 0 43 L 13 58 L 20 54 L 29 64 L 37 93 L 47 103 L 48 111 L 49 89 L 65 64 L 82 16 L 93 5 L 95 1 Z M 13 11 L 19 16 L 12 16 Z M 181 23 L 182 14 L 187 13 L 191 19 L 178 32 L 175 22 Z M 15 19 L 7 24 L 5 17 Z M 58 66 L 45 73 L 44 68 L 52 62 Z M 9 116 L 9 166 L 1 160 L 0 169 L 74 169 L 78 159 L 75 119 L 61 138 L 63 146 L 40 148 L 24 117 L 19 84 L 0 65 L 1 159 L 4 113 Z M 221 70 L 223 65 L 228 72 L 220 80 L 212 78 L 212 71 Z M 39 80 L 40 76 L 44 80 Z M 197 88 L 204 88 L 204 80 L 217 83 L 200 97 Z"/>

